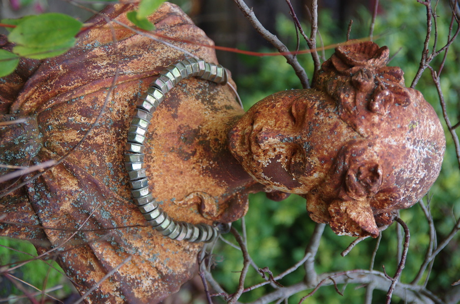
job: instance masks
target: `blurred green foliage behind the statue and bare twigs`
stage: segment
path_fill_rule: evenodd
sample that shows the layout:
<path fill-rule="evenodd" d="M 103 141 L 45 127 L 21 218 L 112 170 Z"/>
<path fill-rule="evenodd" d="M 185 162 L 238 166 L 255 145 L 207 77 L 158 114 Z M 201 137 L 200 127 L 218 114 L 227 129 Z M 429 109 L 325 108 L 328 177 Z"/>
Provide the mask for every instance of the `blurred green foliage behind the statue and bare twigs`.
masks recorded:
<path fill-rule="evenodd" d="M 182 2 L 183 3 L 183 2 Z M 183 3 L 184 7 L 188 3 Z M 415 0 L 401 0 L 381 2 L 382 12 L 379 13 L 375 23 L 374 41 L 380 46 L 389 47 L 391 55 L 394 56 L 389 65 L 400 66 L 405 71 L 406 85 L 410 86 L 412 79 L 418 69 L 421 50 L 426 34 L 426 11 L 425 8 Z M 448 25 L 450 22 L 449 8 L 445 3 L 440 3 L 437 8 L 438 15 L 438 46 L 446 42 Z M 322 42 L 325 46 L 345 41 L 346 28 L 336 26 L 332 14 L 328 11 L 321 11 L 319 16 L 319 30 Z M 293 23 L 285 15 L 279 15 L 275 20 L 278 36 L 289 46 L 290 50 L 295 49 L 295 30 Z M 365 38 L 369 35 L 371 15 L 366 8 L 358 11 L 353 17 L 351 38 Z M 309 32 L 308 25 L 304 25 L 306 32 Z M 433 43 L 433 41 L 431 42 Z M 319 39 L 318 39 L 319 46 Z M 301 49 L 306 48 L 306 43 L 301 44 Z M 439 48 L 439 47 L 438 47 Z M 260 50 L 260 51 L 273 51 Z M 328 58 L 333 50 L 325 52 Z M 447 57 L 447 64 L 441 75 L 441 84 L 448 104 L 450 119 L 456 123 L 460 119 L 458 93 L 460 92 L 460 43 L 456 42 L 451 46 Z M 441 57 L 441 56 L 440 56 Z M 441 58 L 437 58 L 433 66 L 436 68 Z M 256 101 L 277 91 L 291 88 L 301 88 L 300 82 L 295 76 L 292 68 L 285 63 L 282 56 L 276 57 L 250 57 L 240 56 L 240 60 L 251 67 L 253 72 L 236 79 L 239 94 L 244 101 L 245 108 L 249 108 Z M 311 56 L 299 55 L 299 60 L 305 67 L 309 77 L 312 77 L 313 63 Z M 432 83 L 429 71 L 425 71 L 416 89 L 420 90 L 425 99 L 428 100 L 441 115 L 439 97 L 435 86 Z M 443 119 L 441 121 L 444 124 Z M 437 228 L 438 240 L 442 240 L 452 229 L 455 218 L 460 216 L 460 171 L 455 156 L 455 149 L 452 138 L 446 132 L 447 150 L 442 172 L 438 181 L 433 186 L 431 197 L 431 208 Z M 426 200 L 425 200 L 426 201 Z M 406 268 L 402 275 L 403 282 L 410 282 L 418 272 L 426 246 L 428 245 L 428 223 L 418 205 L 403 210 L 401 217 L 406 221 L 411 230 L 411 245 Z M 304 255 L 305 247 L 308 244 L 309 236 L 314 229 L 314 223 L 309 219 L 305 200 L 292 195 L 282 202 L 273 202 L 265 198 L 264 194 L 257 194 L 250 197 L 249 212 L 245 217 L 247 223 L 247 235 L 249 253 L 259 267 L 269 267 L 274 275 L 277 275 L 290 267 Z M 241 227 L 241 221 L 234 223 Z M 375 269 L 381 270 L 385 265 L 387 272 L 392 275 L 396 270 L 397 258 L 397 230 L 395 225 L 389 227 L 383 233 L 382 243 L 377 252 Z M 226 237 L 231 239 L 230 237 Z M 317 272 L 345 271 L 357 268 L 368 269 L 371 254 L 376 244 L 375 240 L 366 240 L 356 246 L 347 256 L 341 257 L 340 252 L 344 250 L 353 239 L 350 237 L 336 236 L 329 227 L 326 227 L 321 240 L 317 256 Z M 2 238 L 0 244 L 18 248 L 22 251 L 33 253 L 32 245 L 16 240 Z M 452 240 L 450 245 L 436 259 L 433 273 L 428 288 L 434 293 L 442 295 L 443 291 L 451 283 L 460 279 L 458 236 Z M 216 266 L 213 274 L 227 290 L 235 290 L 238 284 L 239 271 L 242 268 L 241 253 L 225 244 L 219 244 L 214 250 L 216 254 Z M 2 265 L 28 258 L 28 256 L 17 255 L 8 248 L 0 248 L 0 262 Z M 42 288 L 43 278 L 48 278 L 47 286 L 59 284 L 62 275 L 56 271 L 49 271 L 49 267 L 43 262 L 39 264 L 26 264 L 16 273 L 17 276 L 27 282 Z M 41 263 L 41 264 L 40 264 Z M 35 274 L 31 276 L 30 274 Z M 303 279 L 303 269 L 288 275 L 280 281 L 287 286 L 300 282 Z M 261 282 L 260 275 L 251 270 L 246 286 Z M 5 279 L 0 282 L 0 297 L 10 294 L 21 294 L 20 291 L 10 285 L 6 285 Z M 11 288 L 10 288 L 11 287 Z M 362 303 L 364 299 L 364 288 L 357 286 L 339 286 L 345 289 L 344 296 L 336 293 L 333 286 L 322 287 L 308 303 Z M 359 286 L 358 286 L 359 287 Z M 64 289 L 64 292 L 69 292 Z M 242 301 L 254 300 L 271 291 L 271 287 L 259 288 L 248 294 L 244 294 Z M 293 296 L 289 303 L 297 303 L 306 293 Z M 380 303 L 384 292 L 375 292 L 374 302 Z M 218 302 L 218 300 L 216 300 Z M 395 303 L 398 303 L 395 297 Z M 401 303 L 403 301 L 400 301 Z"/>

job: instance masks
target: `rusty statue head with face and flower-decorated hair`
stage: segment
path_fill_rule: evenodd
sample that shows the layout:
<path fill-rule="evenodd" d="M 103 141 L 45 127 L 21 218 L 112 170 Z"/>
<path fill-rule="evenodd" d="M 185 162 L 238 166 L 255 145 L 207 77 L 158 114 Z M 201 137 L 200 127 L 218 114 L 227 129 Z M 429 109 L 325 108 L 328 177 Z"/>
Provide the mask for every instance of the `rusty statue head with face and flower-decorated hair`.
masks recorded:
<path fill-rule="evenodd" d="M 349 42 L 322 64 L 315 88 L 275 93 L 229 132 L 229 147 L 258 182 L 307 199 L 335 233 L 378 236 L 428 192 L 445 150 L 440 121 L 388 48 Z"/>

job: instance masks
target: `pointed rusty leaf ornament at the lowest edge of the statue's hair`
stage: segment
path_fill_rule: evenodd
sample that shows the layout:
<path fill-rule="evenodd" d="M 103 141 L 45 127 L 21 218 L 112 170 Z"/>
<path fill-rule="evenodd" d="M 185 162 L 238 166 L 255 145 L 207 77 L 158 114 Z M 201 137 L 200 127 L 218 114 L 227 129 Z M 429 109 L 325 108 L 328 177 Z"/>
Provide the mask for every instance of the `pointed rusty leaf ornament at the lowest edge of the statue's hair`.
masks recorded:
<path fill-rule="evenodd" d="M 379 229 L 369 200 L 334 200 L 329 206 L 329 225 L 337 235 L 378 237 Z"/>

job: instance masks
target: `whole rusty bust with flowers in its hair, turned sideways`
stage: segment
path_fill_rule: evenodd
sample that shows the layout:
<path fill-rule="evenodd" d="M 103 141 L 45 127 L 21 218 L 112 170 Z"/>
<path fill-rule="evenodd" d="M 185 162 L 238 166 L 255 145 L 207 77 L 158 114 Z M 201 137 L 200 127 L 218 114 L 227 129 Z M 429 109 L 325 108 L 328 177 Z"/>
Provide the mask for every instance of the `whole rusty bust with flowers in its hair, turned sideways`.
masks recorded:
<path fill-rule="evenodd" d="M 109 6 L 104 14 L 128 24 L 132 9 Z M 185 239 L 212 239 L 203 227 L 239 219 L 249 193 L 299 194 L 314 221 L 375 237 L 438 176 L 442 127 L 421 94 L 405 88 L 401 69 L 385 66 L 387 48 L 349 42 L 323 63 L 315 88 L 276 93 L 244 113 L 229 75 L 230 85 L 189 78 L 167 93 L 159 88 L 164 96 L 155 91 L 150 83 L 170 64 L 217 60 L 176 6 L 163 4 L 150 20 L 156 37 L 172 40 L 152 41 L 96 16 L 74 49 L 22 61 L 0 83 L 0 121 L 8 122 L 1 162 L 59 161 L 33 180 L 2 184 L 1 234 L 30 240 L 40 253 L 62 248 L 57 261 L 79 292 L 98 284 L 87 302 L 155 303 L 177 291 L 203 247 Z M 140 108 L 145 92 L 161 104 Z M 155 231 L 145 218 L 158 224 L 158 206 L 164 226 Z"/>

